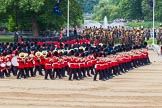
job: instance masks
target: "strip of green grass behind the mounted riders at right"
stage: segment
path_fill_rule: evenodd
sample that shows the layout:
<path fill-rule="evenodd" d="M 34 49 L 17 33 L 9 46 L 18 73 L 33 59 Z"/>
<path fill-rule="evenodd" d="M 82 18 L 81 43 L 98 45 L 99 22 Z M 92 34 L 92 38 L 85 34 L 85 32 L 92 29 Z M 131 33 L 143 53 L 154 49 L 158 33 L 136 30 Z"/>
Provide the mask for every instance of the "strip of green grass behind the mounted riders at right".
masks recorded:
<path fill-rule="evenodd" d="M 155 28 L 159 28 L 161 22 L 155 22 Z M 144 28 L 152 28 L 152 21 L 147 21 L 147 22 L 128 22 L 126 23 L 127 26 L 129 27 L 141 27 L 143 26 Z"/>

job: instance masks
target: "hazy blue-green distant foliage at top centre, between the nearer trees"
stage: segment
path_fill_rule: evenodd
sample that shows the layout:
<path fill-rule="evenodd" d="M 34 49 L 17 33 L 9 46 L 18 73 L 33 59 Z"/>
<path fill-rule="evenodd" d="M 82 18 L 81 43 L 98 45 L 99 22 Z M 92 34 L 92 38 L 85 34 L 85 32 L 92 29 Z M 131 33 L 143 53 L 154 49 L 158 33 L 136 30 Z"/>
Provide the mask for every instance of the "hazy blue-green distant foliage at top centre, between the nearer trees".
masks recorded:
<path fill-rule="evenodd" d="M 83 0 L 83 12 L 84 13 L 93 13 L 93 7 L 99 3 L 99 0 Z"/>

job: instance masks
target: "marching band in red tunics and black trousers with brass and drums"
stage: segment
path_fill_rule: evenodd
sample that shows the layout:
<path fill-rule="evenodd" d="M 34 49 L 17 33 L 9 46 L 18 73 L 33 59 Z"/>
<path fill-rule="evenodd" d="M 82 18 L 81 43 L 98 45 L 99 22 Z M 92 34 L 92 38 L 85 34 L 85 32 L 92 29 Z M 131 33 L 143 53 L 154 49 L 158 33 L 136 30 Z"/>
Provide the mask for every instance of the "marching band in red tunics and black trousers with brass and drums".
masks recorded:
<path fill-rule="evenodd" d="M 133 68 L 150 64 L 145 48 L 130 50 L 121 45 L 114 48 L 102 43 L 89 45 L 66 50 L 55 49 L 52 52 L 31 51 L 30 54 L 20 52 L 17 56 L 1 56 L 0 76 L 9 77 L 13 73 L 17 79 L 21 79 L 35 77 L 38 72 L 46 80 L 48 77 L 54 80 L 67 76 L 69 80 L 83 80 L 94 76 L 95 81 L 99 74 L 99 80 L 105 81 Z"/>

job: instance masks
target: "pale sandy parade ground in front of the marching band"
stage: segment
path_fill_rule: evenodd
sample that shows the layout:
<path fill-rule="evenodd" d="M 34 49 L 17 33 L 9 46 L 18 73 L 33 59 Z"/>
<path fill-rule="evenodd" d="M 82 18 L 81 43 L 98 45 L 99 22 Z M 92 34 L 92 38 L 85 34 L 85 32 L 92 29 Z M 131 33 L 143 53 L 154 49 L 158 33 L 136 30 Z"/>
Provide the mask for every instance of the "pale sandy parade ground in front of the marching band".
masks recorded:
<path fill-rule="evenodd" d="M 0 79 L 0 108 L 162 108 L 162 57 L 108 81 Z"/>

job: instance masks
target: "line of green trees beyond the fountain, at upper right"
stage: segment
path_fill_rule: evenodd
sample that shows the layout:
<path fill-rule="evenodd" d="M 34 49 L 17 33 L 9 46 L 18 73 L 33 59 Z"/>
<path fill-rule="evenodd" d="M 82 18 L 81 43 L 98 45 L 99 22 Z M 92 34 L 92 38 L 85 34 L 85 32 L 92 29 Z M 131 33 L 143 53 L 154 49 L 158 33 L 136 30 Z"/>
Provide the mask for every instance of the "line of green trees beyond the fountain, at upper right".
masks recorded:
<path fill-rule="evenodd" d="M 150 0 L 100 0 L 94 6 L 93 19 L 102 21 L 104 16 L 109 20 L 116 18 L 152 20 Z M 162 21 L 162 1 L 155 0 L 155 18 Z"/>

